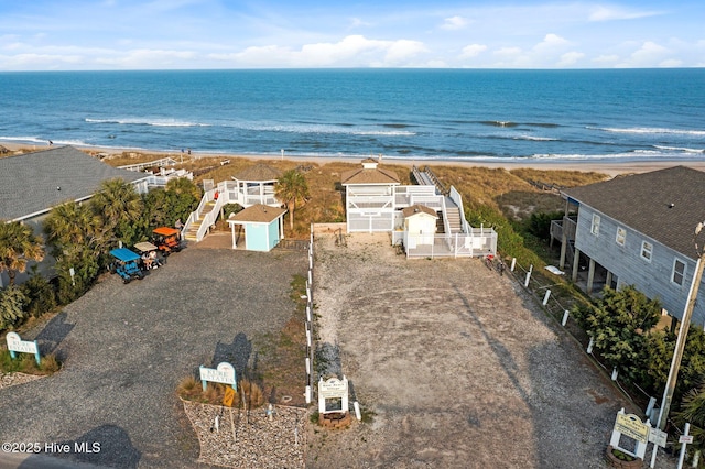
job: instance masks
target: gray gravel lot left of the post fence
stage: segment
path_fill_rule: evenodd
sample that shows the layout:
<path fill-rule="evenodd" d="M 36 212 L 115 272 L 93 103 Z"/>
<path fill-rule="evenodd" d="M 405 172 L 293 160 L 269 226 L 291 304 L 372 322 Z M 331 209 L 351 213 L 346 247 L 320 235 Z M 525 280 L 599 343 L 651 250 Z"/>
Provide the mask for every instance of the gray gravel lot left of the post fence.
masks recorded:
<path fill-rule="evenodd" d="M 0 441 L 98 443 L 99 452 L 68 457 L 99 466 L 198 466 L 178 381 L 228 358 L 240 372 L 251 337 L 291 316 L 290 282 L 306 268 L 300 252 L 188 248 L 141 282 L 107 277 L 23 335 L 56 350 L 64 369 L 0 390 Z"/>

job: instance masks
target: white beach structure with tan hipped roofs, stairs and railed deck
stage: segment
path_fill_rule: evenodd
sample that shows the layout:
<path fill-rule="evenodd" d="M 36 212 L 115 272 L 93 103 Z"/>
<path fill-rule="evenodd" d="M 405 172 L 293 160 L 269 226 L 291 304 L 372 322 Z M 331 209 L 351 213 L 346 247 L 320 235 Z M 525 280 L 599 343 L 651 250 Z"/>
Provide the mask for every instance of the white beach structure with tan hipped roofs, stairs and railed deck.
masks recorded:
<path fill-rule="evenodd" d="M 347 232 L 390 232 L 410 258 L 496 254 L 497 233 L 469 226 L 454 187 L 443 187 L 427 166 L 412 174 L 419 184 L 401 185 L 393 171 L 371 157 L 343 173 Z"/>

